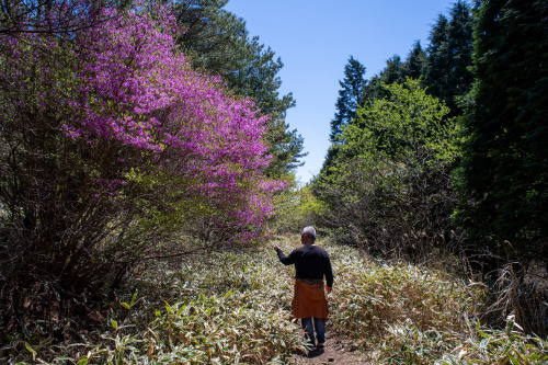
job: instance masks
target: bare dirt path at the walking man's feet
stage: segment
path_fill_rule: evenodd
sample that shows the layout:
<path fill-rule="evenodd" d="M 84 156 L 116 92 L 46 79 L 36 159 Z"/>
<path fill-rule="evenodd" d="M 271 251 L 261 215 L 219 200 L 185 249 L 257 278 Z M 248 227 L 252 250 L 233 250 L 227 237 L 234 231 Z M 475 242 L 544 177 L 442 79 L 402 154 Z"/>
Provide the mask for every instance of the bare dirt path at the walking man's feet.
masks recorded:
<path fill-rule="evenodd" d="M 356 346 L 352 340 L 344 339 L 327 329 L 327 344 L 323 349 L 318 349 L 308 354 L 297 354 L 293 357 L 295 364 L 352 364 L 373 365 L 364 356 L 359 356 L 355 351 Z"/>

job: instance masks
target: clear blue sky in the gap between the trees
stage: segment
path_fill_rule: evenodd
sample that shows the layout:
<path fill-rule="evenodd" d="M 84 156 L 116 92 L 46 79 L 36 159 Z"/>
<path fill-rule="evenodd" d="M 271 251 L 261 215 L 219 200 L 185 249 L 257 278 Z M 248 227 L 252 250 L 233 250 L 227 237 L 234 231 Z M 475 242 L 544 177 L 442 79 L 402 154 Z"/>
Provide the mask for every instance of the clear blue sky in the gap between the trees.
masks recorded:
<path fill-rule="evenodd" d="M 226 10 L 246 20 L 250 36 L 282 58 L 281 94 L 293 92 L 297 106 L 286 122 L 305 138 L 305 166 L 297 178 L 317 174 L 329 147 L 344 65 L 354 56 L 368 79 L 393 55 L 402 59 L 413 43 L 427 45 L 432 24 L 454 0 L 229 0 Z"/>

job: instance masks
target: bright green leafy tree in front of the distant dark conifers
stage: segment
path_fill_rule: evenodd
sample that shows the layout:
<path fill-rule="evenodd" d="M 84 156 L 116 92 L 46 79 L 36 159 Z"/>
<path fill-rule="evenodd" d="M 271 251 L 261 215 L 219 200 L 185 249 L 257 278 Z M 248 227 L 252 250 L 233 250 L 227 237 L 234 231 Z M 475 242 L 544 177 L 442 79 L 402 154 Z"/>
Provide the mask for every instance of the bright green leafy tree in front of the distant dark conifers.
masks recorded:
<path fill-rule="evenodd" d="M 444 121 L 448 109 L 419 83 L 384 85 L 389 98 L 358 109 L 332 167 L 315 180 L 315 194 L 328 206 L 321 224 L 338 229 L 339 241 L 396 256 L 456 244 L 448 171 L 457 125 Z"/>

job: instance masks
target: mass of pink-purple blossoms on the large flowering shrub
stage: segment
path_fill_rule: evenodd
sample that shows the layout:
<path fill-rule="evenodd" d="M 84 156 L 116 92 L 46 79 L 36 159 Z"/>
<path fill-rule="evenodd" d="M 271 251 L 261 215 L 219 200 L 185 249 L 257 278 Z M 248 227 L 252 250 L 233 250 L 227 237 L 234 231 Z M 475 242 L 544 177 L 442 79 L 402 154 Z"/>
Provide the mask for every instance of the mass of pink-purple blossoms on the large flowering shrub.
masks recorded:
<path fill-rule="evenodd" d="M 156 21 L 115 9 L 101 18 L 107 20 L 80 31 L 66 50 L 75 60 L 71 77 L 57 79 L 56 62 L 41 64 L 37 71 L 48 87 L 37 105 L 70 109 L 72 118 L 59 124 L 65 137 L 104 152 L 90 168 L 93 196 L 122 202 L 136 181 L 153 175 L 157 183 L 165 181 L 162 189 L 207 205 L 212 219 L 238 232 L 235 240 L 261 237 L 273 214 L 272 195 L 287 185 L 263 175 L 272 160 L 263 139 L 269 117 L 251 100 L 235 99 L 220 78 L 192 69 L 174 44 L 168 7 Z M 11 48 L 5 66 L 19 72 L 19 87 L 25 82 L 21 59 L 59 47 L 58 39 L 41 34 L 4 38 Z M 28 41 L 36 47 L 25 47 Z M 32 101 L 13 102 L 25 107 Z"/>

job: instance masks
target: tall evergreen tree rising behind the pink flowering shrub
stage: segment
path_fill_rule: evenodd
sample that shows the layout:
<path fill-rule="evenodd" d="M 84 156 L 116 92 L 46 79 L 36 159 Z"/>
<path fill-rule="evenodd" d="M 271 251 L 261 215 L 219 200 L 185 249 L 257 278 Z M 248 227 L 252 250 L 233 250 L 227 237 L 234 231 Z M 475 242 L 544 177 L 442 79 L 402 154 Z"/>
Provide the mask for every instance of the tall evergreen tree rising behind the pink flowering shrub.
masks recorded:
<path fill-rule="evenodd" d="M 246 22 L 222 9 L 228 0 L 179 0 L 174 9 L 184 32 L 178 43 L 195 67 L 222 77 L 228 88 L 253 99 L 271 116 L 267 140 L 274 161 L 270 176 L 287 175 L 301 166 L 302 137 L 289 129 L 286 111 L 295 106 L 292 93 L 279 95 L 277 72 L 284 66 L 259 37 L 249 37 Z"/>

